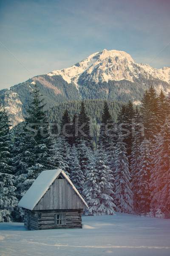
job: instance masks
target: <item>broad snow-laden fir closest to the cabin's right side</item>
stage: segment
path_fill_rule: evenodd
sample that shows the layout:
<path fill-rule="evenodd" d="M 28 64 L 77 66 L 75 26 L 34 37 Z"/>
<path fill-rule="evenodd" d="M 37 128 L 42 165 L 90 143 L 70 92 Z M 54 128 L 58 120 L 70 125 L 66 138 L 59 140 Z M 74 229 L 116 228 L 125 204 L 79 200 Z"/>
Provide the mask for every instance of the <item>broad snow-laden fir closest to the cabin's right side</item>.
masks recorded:
<path fill-rule="evenodd" d="M 87 180 L 85 182 L 85 196 L 89 209 L 86 215 L 113 215 L 113 175 L 108 167 L 106 154 L 102 146 L 97 149 L 91 161 Z"/>

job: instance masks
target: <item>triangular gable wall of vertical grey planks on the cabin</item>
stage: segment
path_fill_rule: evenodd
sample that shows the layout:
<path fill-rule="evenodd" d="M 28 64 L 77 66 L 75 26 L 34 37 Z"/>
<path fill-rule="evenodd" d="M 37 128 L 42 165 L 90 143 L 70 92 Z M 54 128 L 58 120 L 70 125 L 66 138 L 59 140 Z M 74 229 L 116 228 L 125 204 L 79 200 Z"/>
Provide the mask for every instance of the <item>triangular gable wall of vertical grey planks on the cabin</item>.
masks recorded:
<path fill-rule="evenodd" d="M 34 210 L 85 209 L 81 198 L 66 179 L 56 179 Z"/>

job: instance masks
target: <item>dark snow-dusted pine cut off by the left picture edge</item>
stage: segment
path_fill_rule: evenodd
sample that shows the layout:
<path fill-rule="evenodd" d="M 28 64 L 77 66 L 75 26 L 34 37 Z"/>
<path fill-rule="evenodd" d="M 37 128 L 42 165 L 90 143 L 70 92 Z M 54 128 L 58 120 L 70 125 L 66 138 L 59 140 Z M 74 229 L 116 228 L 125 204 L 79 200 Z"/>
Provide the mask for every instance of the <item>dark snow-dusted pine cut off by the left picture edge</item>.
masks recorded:
<path fill-rule="evenodd" d="M 0 222 L 14 219 L 18 204 L 16 195 L 15 169 L 11 155 L 11 138 L 8 114 L 0 109 Z"/>

